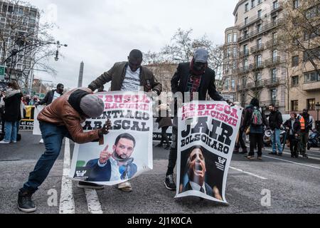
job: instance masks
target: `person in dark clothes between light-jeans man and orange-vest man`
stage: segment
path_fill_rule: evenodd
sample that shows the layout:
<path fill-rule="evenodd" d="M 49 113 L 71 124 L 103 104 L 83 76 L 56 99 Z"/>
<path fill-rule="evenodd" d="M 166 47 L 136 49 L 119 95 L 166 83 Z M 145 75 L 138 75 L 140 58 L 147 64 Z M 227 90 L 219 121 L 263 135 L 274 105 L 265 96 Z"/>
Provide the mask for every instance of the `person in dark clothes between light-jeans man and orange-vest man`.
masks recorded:
<path fill-rule="evenodd" d="M 284 123 L 284 128 L 286 128 L 288 133 L 291 157 L 298 158 L 299 153 L 297 138 L 300 134 L 301 125 L 299 120 L 297 119 L 297 113 L 290 114 L 290 119 Z"/>

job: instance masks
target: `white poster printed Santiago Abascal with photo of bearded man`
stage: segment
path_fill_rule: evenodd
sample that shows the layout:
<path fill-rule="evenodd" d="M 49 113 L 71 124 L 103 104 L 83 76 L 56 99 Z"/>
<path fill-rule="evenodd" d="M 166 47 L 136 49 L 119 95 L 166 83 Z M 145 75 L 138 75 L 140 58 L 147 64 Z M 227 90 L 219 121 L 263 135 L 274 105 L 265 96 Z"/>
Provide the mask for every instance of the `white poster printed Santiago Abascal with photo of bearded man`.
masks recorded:
<path fill-rule="evenodd" d="M 99 185 L 117 185 L 152 170 L 152 102 L 146 93 L 96 93 L 105 102 L 100 118 L 87 119 L 83 130 L 101 128 L 110 119 L 112 129 L 104 144 L 75 145 L 70 177 Z"/>

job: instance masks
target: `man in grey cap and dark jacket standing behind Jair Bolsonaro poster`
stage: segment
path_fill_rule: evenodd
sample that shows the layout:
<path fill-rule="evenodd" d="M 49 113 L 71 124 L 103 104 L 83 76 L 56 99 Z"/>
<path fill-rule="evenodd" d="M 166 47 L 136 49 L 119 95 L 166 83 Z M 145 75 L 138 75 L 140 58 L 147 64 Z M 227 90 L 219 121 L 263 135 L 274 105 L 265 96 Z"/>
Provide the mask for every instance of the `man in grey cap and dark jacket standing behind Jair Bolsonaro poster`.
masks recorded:
<path fill-rule="evenodd" d="M 207 93 L 213 100 L 223 100 L 215 89 L 215 71 L 208 67 L 209 54 L 203 48 L 198 48 L 190 63 L 180 63 L 171 79 L 172 93 L 198 93 L 199 100 L 206 100 Z M 175 108 L 176 112 L 176 108 Z M 175 113 L 176 115 L 176 113 Z M 168 170 L 164 185 L 168 190 L 176 190 L 174 182 L 174 167 L 177 160 L 178 118 L 175 116 L 172 130 L 172 142 L 169 154 Z"/>

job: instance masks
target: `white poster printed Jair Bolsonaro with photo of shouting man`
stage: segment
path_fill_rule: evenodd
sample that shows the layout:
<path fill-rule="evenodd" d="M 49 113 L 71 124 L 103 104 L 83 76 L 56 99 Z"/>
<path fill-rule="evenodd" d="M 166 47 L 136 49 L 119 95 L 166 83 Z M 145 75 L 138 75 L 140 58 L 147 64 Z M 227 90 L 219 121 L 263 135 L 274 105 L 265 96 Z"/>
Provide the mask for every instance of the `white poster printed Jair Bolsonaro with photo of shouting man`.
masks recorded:
<path fill-rule="evenodd" d="M 227 203 L 225 186 L 242 108 L 221 101 L 184 103 L 178 110 L 176 197 Z"/>

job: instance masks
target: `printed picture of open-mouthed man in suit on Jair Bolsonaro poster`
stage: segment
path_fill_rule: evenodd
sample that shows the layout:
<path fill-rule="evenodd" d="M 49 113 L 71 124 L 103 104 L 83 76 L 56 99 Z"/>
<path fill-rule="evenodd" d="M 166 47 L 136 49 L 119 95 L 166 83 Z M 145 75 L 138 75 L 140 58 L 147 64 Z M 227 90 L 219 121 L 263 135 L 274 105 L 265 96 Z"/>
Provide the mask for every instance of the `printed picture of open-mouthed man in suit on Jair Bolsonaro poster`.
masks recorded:
<path fill-rule="evenodd" d="M 193 190 L 222 200 L 218 187 L 210 187 L 210 185 L 206 183 L 207 168 L 202 147 L 196 145 L 192 147 L 190 151 L 186 162 L 186 176 L 188 177 L 188 182 L 182 186 L 182 191 L 180 193 Z M 183 179 L 186 180 L 185 178 Z"/>

